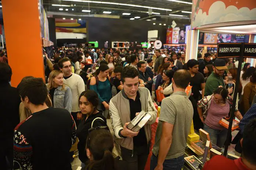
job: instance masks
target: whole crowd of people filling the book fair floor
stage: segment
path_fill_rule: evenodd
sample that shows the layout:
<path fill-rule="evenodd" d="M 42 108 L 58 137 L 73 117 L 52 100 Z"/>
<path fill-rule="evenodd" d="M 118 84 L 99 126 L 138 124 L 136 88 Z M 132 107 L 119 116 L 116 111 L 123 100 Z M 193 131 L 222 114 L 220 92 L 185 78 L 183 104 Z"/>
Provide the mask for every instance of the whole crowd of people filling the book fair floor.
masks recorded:
<path fill-rule="evenodd" d="M 150 169 L 181 170 L 192 120 L 195 130 L 204 129 L 221 148 L 227 129 L 218 121 L 230 115 L 233 102 L 242 159 L 216 157 L 204 169 L 217 169 L 218 161 L 256 169 L 256 70 L 246 59 L 233 101 L 237 64 L 211 53 L 185 62 L 184 51 L 168 49 L 61 47 L 44 53 L 45 79 L 28 75 L 17 88 L 11 86 L 6 55 L 0 56 L 1 169 L 71 170 L 70 148 L 77 144 L 83 170 L 143 170 L 157 103 L 161 111 Z M 161 101 L 156 92 L 164 95 Z M 141 111 L 151 118 L 133 132 L 127 126 Z M 113 157 L 114 146 L 122 160 Z"/>

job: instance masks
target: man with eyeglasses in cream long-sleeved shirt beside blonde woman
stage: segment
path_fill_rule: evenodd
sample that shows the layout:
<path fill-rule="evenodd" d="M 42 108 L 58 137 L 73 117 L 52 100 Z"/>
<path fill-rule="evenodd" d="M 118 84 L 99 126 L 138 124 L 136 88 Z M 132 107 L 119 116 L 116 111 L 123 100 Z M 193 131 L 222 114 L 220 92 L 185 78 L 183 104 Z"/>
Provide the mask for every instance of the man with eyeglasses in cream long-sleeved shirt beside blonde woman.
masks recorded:
<path fill-rule="evenodd" d="M 68 58 L 63 58 L 58 62 L 58 66 L 63 73 L 64 83 L 71 88 L 72 92 L 72 111 L 71 115 L 75 120 L 76 125 L 79 124 L 79 119 L 82 114 L 79 113 L 78 99 L 83 91 L 85 91 L 85 83 L 78 74 L 71 72 L 71 62 Z"/>

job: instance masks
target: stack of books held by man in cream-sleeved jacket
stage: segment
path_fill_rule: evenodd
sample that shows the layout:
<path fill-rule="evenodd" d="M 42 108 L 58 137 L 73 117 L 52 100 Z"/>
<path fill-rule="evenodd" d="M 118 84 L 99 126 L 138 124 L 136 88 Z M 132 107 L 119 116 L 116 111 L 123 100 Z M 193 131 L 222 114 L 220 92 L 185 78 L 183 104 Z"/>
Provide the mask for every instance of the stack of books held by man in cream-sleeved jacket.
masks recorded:
<path fill-rule="evenodd" d="M 141 111 L 132 121 L 127 125 L 127 128 L 133 132 L 139 130 L 149 121 L 151 115 L 148 112 Z"/>

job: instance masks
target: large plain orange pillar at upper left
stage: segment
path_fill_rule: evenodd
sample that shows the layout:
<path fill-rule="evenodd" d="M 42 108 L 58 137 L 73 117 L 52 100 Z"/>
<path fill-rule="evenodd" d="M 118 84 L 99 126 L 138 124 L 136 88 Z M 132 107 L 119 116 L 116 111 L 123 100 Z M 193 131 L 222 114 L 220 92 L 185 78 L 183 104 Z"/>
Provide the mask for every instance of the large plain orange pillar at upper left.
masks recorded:
<path fill-rule="evenodd" d="M 25 76 L 45 80 L 38 0 L 2 0 L 11 85 Z"/>

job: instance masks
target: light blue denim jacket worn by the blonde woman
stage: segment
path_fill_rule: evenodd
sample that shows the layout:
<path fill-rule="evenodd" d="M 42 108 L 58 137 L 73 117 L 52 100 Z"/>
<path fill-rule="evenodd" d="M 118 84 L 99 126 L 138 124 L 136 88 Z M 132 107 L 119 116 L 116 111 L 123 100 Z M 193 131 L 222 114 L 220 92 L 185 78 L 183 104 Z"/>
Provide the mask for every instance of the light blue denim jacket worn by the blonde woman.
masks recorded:
<path fill-rule="evenodd" d="M 49 84 L 47 84 L 48 87 Z M 65 108 L 70 113 L 72 110 L 72 93 L 70 87 L 64 85 L 65 89 L 62 90 L 62 86 L 58 86 L 58 88 L 54 91 L 53 96 L 53 105 L 57 108 Z M 49 89 L 48 89 L 49 92 Z"/>

